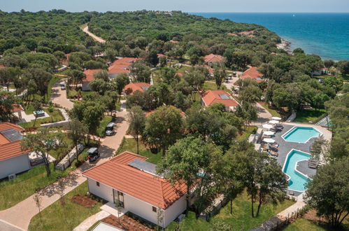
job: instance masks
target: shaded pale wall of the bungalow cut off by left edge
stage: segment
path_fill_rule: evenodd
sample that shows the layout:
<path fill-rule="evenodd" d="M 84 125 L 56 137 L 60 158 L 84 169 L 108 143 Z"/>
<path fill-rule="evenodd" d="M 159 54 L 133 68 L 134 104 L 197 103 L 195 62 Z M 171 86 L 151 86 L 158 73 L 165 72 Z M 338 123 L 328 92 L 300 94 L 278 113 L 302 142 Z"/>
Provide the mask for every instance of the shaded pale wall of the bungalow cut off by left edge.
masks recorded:
<path fill-rule="evenodd" d="M 0 179 L 10 174 L 17 174 L 30 169 L 28 153 L 17 155 L 14 158 L 0 161 Z"/>

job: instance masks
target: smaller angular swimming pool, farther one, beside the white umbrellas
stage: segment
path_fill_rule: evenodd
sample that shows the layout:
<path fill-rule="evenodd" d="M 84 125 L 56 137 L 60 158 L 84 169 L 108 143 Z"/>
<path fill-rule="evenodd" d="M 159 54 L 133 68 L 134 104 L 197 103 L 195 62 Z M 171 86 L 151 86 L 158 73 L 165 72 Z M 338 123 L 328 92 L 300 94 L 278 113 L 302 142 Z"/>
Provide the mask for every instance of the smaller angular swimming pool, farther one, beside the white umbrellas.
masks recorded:
<path fill-rule="evenodd" d="M 292 127 L 291 130 L 283 134 L 283 139 L 289 142 L 306 143 L 313 137 L 319 137 L 320 132 L 313 127 Z"/>

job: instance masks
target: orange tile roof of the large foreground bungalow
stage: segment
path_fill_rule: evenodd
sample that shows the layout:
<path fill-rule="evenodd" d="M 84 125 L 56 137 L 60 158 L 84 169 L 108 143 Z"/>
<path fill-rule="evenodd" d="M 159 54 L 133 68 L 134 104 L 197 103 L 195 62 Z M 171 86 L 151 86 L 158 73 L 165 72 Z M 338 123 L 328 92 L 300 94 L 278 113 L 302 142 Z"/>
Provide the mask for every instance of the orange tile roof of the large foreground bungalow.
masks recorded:
<path fill-rule="evenodd" d="M 104 164 L 83 172 L 83 176 L 104 183 L 111 188 L 120 190 L 122 193 L 162 209 L 167 209 L 185 195 L 186 187 L 184 183 L 176 183 L 173 186 L 166 179 L 127 165 L 127 163 L 136 159 L 146 160 L 147 158 L 124 152 Z"/>

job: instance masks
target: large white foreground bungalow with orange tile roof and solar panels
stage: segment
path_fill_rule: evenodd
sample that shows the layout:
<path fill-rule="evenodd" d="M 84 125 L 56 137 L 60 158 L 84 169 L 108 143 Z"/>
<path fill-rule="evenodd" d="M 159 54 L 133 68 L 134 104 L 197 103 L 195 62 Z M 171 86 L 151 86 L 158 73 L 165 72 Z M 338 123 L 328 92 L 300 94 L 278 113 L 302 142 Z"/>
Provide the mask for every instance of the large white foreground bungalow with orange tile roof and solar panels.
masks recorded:
<path fill-rule="evenodd" d="M 171 182 L 156 174 L 156 165 L 147 158 L 124 152 L 83 172 L 90 193 L 124 211 L 166 228 L 185 211 L 185 184 Z M 161 214 L 161 215 L 159 215 Z"/>

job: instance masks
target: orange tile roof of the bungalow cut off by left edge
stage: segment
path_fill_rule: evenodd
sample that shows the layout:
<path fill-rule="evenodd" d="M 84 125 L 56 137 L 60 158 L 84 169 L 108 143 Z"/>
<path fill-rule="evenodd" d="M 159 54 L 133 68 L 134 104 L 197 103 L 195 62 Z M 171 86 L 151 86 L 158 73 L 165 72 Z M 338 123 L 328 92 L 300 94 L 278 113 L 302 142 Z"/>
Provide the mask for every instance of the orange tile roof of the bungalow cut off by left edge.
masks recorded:
<path fill-rule="evenodd" d="M 24 130 L 18 125 L 12 123 L 0 123 L 0 131 L 13 129 L 17 132 Z M 27 153 L 27 151 L 22 151 L 20 146 L 20 141 L 11 142 L 5 136 L 0 134 L 0 161 L 6 160 L 8 158 L 14 158 L 17 155 L 22 155 Z"/>

